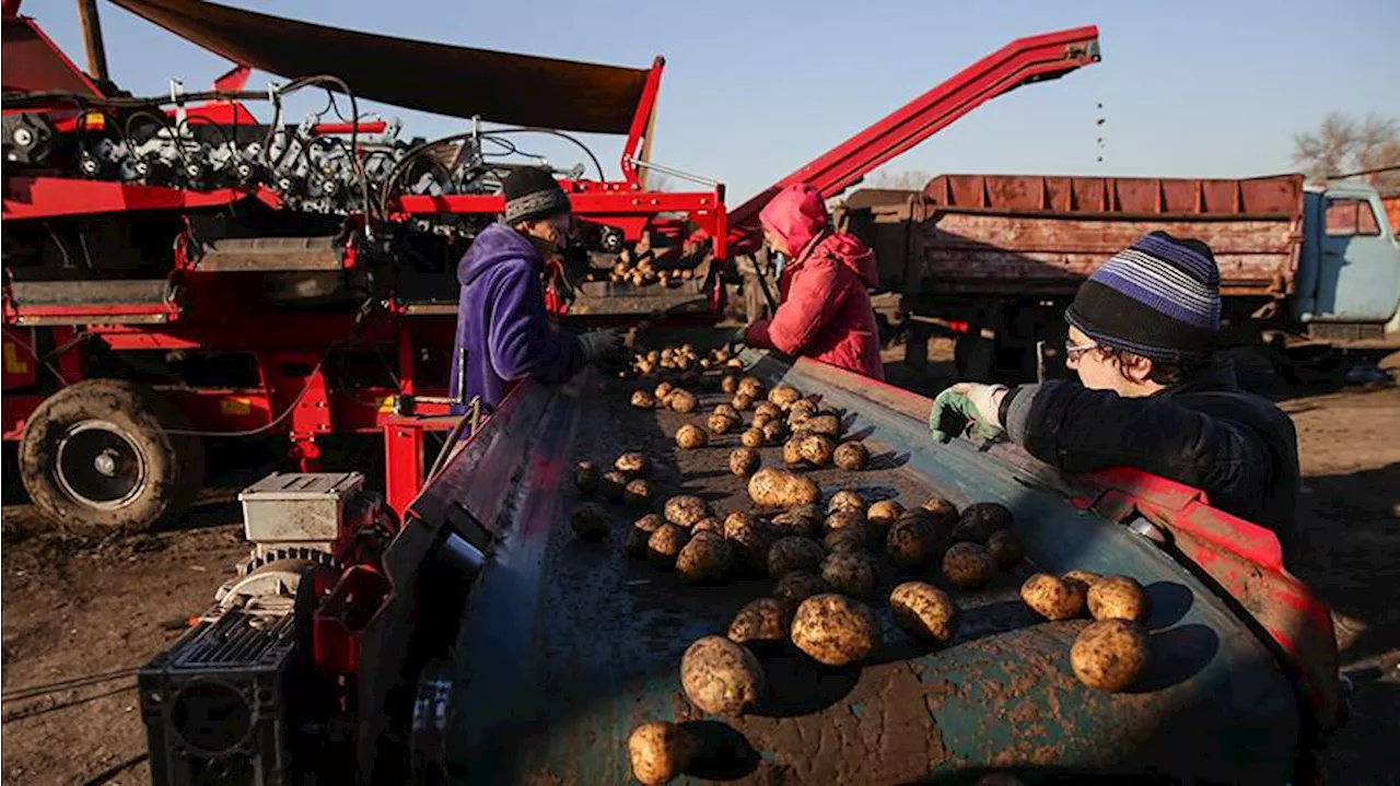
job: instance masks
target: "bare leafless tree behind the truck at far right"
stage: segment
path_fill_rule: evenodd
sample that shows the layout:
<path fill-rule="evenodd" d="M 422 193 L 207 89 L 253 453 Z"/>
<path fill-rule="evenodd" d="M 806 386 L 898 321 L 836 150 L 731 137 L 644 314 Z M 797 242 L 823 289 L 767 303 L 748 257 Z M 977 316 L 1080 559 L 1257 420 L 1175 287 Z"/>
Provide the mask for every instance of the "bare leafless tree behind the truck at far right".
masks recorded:
<path fill-rule="evenodd" d="M 1315 183 L 1347 172 L 1400 166 L 1400 122 L 1375 112 L 1361 122 L 1329 112 L 1316 131 L 1294 134 L 1294 164 Z M 1400 186 L 1397 171 L 1372 172 L 1364 178 L 1382 189 Z"/>

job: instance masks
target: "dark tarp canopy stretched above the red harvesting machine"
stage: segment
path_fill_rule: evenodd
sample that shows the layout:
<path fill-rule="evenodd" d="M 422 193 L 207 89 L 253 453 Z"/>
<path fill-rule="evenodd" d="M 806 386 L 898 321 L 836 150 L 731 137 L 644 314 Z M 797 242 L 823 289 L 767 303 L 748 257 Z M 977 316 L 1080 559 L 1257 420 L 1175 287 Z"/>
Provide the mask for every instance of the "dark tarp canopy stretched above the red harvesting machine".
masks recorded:
<path fill-rule="evenodd" d="M 111 0 L 235 63 L 340 77 L 357 98 L 456 117 L 627 133 L 647 71 L 339 29 L 203 0 Z"/>

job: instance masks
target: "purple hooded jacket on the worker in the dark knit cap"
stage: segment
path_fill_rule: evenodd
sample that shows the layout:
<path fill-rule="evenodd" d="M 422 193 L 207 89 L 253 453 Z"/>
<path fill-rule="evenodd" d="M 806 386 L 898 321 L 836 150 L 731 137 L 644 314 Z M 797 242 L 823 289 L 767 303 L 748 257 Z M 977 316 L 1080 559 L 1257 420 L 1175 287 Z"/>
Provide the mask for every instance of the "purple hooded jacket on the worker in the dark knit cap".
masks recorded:
<path fill-rule="evenodd" d="M 532 376 L 563 382 L 584 365 L 584 354 L 570 336 L 554 333 L 545 312 L 540 273 L 545 260 L 531 242 L 493 224 L 472 243 L 456 266 L 462 294 L 456 306 L 456 345 L 452 350 L 451 394 L 458 394 L 466 359 L 466 396 L 482 397 L 494 408 L 511 383 Z M 463 406 L 454 411 L 465 411 Z"/>

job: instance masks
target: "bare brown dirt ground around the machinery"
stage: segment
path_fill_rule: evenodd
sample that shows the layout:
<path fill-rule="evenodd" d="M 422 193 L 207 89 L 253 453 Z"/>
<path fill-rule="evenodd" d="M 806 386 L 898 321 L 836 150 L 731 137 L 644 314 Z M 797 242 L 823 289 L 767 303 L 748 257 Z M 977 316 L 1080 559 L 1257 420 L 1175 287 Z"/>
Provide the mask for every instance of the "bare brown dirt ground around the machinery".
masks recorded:
<path fill-rule="evenodd" d="M 949 379 L 946 364 L 889 372 L 921 392 Z M 1326 757 L 1330 782 L 1400 783 L 1400 390 L 1291 393 L 1280 404 L 1298 425 L 1306 476 L 1298 572 L 1331 604 L 1355 683 L 1352 720 Z M 147 783 L 134 678 L 122 670 L 176 638 L 234 575 L 245 554 L 237 492 L 276 467 L 273 446 L 211 450 L 210 487 L 183 527 L 105 538 L 50 531 L 24 503 L 10 446 L 3 459 L 0 783 Z"/>

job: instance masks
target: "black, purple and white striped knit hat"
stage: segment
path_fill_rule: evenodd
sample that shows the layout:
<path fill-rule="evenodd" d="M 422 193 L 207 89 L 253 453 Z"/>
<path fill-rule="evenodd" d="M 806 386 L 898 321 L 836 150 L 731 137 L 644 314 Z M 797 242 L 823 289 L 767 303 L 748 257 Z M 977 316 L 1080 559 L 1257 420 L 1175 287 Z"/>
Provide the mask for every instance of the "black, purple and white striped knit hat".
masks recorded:
<path fill-rule="evenodd" d="M 1219 267 L 1201 241 L 1149 232 L 1095 270 L 1064 317 L 1105 347 L 1200 358 L 1221 327 Z"/>

